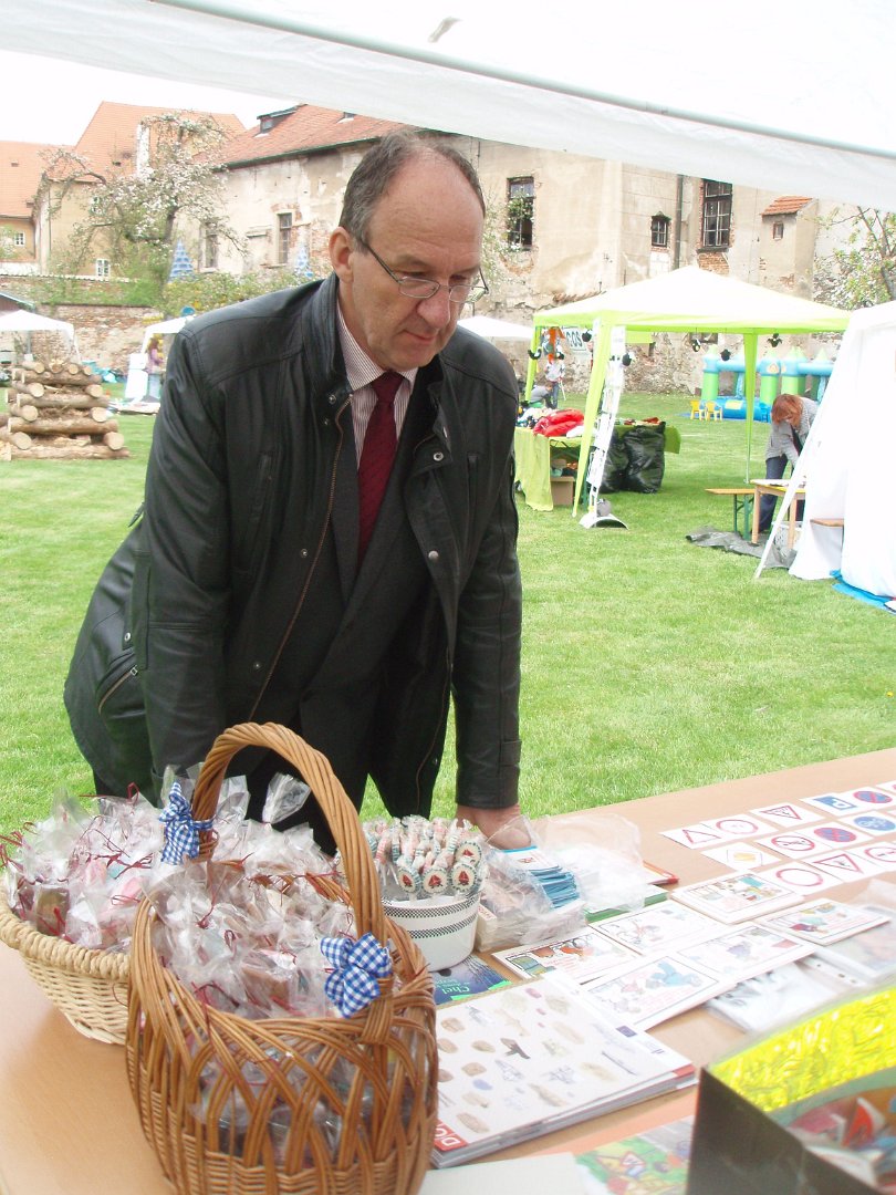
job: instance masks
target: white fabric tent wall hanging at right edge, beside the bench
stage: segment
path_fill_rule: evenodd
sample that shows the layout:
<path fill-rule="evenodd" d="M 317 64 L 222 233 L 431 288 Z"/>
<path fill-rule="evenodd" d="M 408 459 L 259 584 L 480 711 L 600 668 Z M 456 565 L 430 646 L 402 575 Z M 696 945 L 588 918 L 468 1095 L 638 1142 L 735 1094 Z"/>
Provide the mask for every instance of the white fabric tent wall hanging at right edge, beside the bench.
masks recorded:
<path fill-rule="evenodd" d="M 839 569 L 857 589 L 896 595 L 894 458 L 896 302 L 890 302 L 849 320 L 803 449 L 806 502 L 793 576 L 812 581 Z M 842 549 L 841 532 L 812 519 L 842 519 Z"/>

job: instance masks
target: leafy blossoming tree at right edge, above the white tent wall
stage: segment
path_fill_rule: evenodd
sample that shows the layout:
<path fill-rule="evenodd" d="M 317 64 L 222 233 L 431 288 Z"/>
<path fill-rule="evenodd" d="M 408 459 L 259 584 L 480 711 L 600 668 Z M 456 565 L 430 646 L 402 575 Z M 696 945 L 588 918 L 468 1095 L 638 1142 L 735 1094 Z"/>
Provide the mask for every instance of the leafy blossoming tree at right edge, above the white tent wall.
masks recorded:
<path fill-rule="evenodd" d="M 835 213 L 834 220 L 840 219 Z M 896 299 L 896 215 L 859 208 L 845 249 L 817 258 L 814 296 L 854 310 Z"/>

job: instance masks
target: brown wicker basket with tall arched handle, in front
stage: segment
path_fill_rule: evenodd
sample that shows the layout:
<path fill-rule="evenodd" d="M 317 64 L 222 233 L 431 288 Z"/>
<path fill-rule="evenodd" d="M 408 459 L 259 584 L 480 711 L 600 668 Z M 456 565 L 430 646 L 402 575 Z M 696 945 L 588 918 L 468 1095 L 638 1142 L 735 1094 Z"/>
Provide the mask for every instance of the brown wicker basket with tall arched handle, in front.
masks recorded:
<path fill-rule="evenodd" d="M 437 1109 L 430 974 L 383 914 L 354 805 L 327 760 L 290 730 L 247 723 L 220 735 L 196 784 L 194 817 L 214 814 L 227 764 L 248 746 L 276 750 L 311 786 L 339 847 L 348 891 L 335 882 L 324 887 L 351 905 L 358 937 L 370 931 L 391 942 L 394 978 L 380 981 L 381 995 L 349 1018 L 248 1021 L 220 1012 L 162 966 L 152 940 L 155 915 L 143 902 L 127 1036 L 143 1132 L 180 1195 L 413 1195 L 429 1166 Z M 213 836 L 202 834 L 200 858 L 211 850 Z"/>

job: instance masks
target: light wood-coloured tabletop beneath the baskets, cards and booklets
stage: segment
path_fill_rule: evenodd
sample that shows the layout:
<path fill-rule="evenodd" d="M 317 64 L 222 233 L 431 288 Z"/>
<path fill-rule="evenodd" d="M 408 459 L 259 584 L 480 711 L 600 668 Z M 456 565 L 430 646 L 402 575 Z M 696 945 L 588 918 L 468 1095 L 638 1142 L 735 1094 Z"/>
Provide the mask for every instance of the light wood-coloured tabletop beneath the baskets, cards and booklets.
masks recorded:
<path fill-rule="evenodd" d="M 688 850 L 661 831 L 713 815 L 744 813 L 775 801 L 794 801 L 896 779 L 896 749 L 810 764 L 768 776 L 687 789 L 596 809 L 638 826 L 642 853 L 694 883 L 725 869 L 700 851 Z M 564 815 L 557 821 L 561 822 Z M 892 881 L 892 875 L 883 875 Z M 826 894 L 849 899 L 863 885 Z M 124 1049 L 78 1034 L 49 1003 L 19 955 L 0 944 L 0 1193 L 2 1195 L 164 1195 L 171 1187 L 146 1144 L 124 1071 Z M 487 999 L 487 997 L 486 997 Z M 669 1046 L 704 1065 L 745 1038 L 734 1025 L 694 1009 L 651 1030 Z M 514 1146 L 483 1159 L 553 1152 L 569 1142 L 615 1140 L 640 1126 L 687 1115 L 695 1090 L 661 1096 Z M 634 1128 L 634 1132 L 638 1129 Z M 583 1148 L 585 1146 L 582 1146 Z"/>

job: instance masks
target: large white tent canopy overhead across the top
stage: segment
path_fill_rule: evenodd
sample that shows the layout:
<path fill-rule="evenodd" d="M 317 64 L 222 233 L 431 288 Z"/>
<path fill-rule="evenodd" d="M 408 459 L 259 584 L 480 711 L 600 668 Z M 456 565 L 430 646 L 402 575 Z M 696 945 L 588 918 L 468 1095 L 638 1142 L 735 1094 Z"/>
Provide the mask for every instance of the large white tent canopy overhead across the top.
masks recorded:
<path fill-rule="evenodd" d="M 699 53 L 698 24 L 659 0 L 30 0 L 4 48 L 896 210 L 888 4 L 754 0 Z"/>

